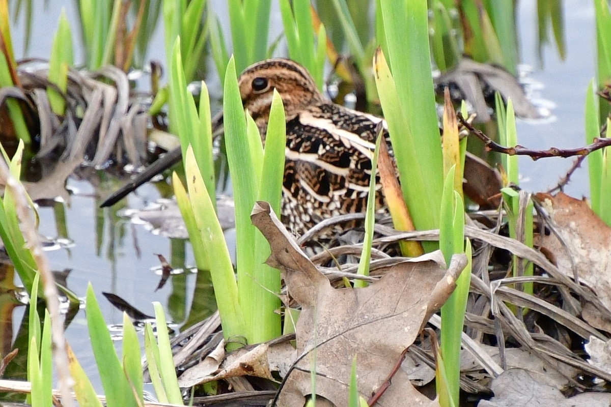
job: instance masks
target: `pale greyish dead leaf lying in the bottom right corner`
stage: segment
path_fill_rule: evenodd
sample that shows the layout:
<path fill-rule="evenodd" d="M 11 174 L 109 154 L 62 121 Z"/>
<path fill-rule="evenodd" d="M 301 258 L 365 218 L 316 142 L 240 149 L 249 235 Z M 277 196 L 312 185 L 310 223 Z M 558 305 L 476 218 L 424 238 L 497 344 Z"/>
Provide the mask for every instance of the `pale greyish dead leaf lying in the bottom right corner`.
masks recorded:
<path fill-rule="evenodd" d="M 611 394 L 584 393 L 566 398 L 556 387 L 540 383 L 541 375 L 509 369 L 492 381 L 494 397 L 478 407 L 609 407 Z"/>

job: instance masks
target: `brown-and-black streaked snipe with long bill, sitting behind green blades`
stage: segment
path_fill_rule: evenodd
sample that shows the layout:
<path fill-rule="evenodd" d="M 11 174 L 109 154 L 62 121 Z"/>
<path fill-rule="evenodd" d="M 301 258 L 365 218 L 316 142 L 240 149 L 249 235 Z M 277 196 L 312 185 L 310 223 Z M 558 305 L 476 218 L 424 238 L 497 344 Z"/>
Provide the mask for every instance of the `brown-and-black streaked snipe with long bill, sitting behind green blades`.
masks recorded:
<path fill-rule="evenodd" d="M 382 119 L 324 98 L 310 73 L 292 60 L 255 63 L 243 71 L 238 82 L 244 109 L 251 113 L 263 142 L 274 88 L 282 97 L 287 146 L 281 220 L 287 229 L 301 236 L 327 218 L 365 212 L 376 127 Z M 222 117 L 213 126 L 222 126 Z M 137 175 L 103 206 L 120 200 L 178 160 L 180 148 L 155 162 L 155 173 L 145 170 Z M 375 181 L 376 206 L 382 210 L 384 198 L 378 175 Z"/>

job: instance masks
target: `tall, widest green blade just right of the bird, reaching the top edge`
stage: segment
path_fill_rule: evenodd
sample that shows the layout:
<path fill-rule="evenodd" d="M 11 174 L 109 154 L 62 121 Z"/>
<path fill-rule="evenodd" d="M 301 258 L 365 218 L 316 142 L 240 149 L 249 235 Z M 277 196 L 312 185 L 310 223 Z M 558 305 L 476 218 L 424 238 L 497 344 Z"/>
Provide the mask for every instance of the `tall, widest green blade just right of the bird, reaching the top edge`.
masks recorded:
<path fill-rule="evenodd" d="M 405 183 L 408 186 L 405 198 L 414 217 L 415 226 L 419 229 L 432 229 L 439 225 L 443 164 L 437 110 L 432 92 L 433 75 L 428 43 L 426 1 L 381 0 L 380 5 L 398 106 L 404 112 L 408 124 L 403 128 L 398 128 L 395 124 L 394 135 L 393 131 L 390 131 L 393 148 L 397 154 L 397 166 L 401 179 L 410 180 Z M 410 27 L 409 30 L 405 29 L 406 22 Z M 406 49 L 412 51 L 406 53 Z M 389 87 L 386 85 L 382 90 L 379 85 L 378 83 L 378 93 L 386 116 L 386 110 L 390 107 L 388 103 L 384 103 L 383 99 L 386 97 L 382 93 Z M 390 125 L 389 121 L 389 128 Z M 415 129 L 418 131 L 417 142 Z M 408 149 L 412 150 L 415 160 L 406 160 L 406 156 L 410 154 L 406 153 Z M 412 167 L 417 169 L 412 170 Z M 415 175 L 416 171 L 419 174 Z M 413 187 L 410 186 L 412 175 L 420 178 Z M 426 185 L 423 184 L 424 182 Z M 420 205 L 414 201 L 420 201 Z M 422 204 L 428 206 L 428 209 L 424 211 L 417 209 L 423 206 Z"/>

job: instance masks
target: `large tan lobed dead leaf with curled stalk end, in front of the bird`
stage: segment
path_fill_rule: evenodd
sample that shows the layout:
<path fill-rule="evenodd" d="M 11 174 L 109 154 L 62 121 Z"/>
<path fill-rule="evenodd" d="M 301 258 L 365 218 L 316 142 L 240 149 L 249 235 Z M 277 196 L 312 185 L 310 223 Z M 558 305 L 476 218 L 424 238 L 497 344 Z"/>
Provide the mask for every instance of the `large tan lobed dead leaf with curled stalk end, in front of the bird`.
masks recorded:
<path fill-rule="evenodd" d="M 358 388 L 368 398 L 388 378 L 401 352 L 409 347 L 431 315 L 452 294 L 466 258 L 454 256 L 445 270 L 441 252 L 406 261 L 362 289 L 334 289 L 309 261 L 269 208 L 258 202 L 252 223 L 268 239 L 268 264 L 283 272 L 288 292 L 302 305 L 296 336 L 298 359 L 285 378 L 277 406 L 304 405 L 312 393 L 316 358 L 316 394 L 336 406 L 348 405 L 351 364 L 356 355 Z M 433 406 L 399 370 L 379 406 Z"/>

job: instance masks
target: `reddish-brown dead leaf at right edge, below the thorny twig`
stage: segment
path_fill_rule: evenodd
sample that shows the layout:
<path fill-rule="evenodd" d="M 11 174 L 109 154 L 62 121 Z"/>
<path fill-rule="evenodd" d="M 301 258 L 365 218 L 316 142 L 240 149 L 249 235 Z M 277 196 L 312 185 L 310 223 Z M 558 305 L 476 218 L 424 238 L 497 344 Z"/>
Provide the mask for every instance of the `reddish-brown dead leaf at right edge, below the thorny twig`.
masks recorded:
<path fill-rule="evenodd" d="M 574 262 L 579 280 L 596 293 L 607 309 L 611 309 L 611 228 L 585 201 L 562 192 L 556 196 L 547 193 L 536 196 L 549 214 L 551 226 L 567 245 L 565 248 L 552 233 L 541 237 L 541 246 L 551 255 L 558 269 L 571 278 Z M 611 321 L 603 318 L 591 304 L 584 304 L 582 316 L 595 328 L 611 332 Z"/>

